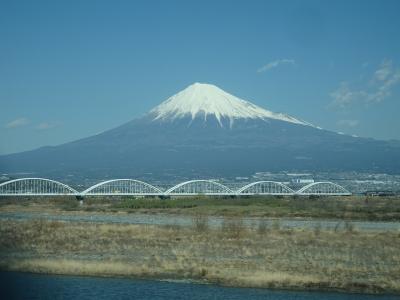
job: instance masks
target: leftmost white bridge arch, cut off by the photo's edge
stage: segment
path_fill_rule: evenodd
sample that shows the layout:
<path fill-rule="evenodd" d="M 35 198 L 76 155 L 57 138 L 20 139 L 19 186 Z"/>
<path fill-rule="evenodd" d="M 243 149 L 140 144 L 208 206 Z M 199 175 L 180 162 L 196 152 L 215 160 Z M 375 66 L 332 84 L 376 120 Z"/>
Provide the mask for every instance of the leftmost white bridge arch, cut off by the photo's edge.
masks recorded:
<path fill-rule="evenodd" d="M 2 196 L 77 195 L 78 191 L 56 180 L 47 178 L 19 178 L 0 184 Z"/>

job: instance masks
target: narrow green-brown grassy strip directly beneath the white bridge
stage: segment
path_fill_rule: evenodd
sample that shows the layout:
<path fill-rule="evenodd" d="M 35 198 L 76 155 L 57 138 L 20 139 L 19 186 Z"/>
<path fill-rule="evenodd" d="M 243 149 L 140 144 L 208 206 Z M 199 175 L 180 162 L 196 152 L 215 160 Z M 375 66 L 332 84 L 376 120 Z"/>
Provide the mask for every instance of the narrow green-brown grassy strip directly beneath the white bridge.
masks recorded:
<path fill-rule="evenodd" d="M 400 197 L 249 197 L 129 198 L 88 197 L 83 205 L 75 198 L 0 199 L 1 211 L 144 212 L 272 218 L 349 219 L 399 221 Z"/>

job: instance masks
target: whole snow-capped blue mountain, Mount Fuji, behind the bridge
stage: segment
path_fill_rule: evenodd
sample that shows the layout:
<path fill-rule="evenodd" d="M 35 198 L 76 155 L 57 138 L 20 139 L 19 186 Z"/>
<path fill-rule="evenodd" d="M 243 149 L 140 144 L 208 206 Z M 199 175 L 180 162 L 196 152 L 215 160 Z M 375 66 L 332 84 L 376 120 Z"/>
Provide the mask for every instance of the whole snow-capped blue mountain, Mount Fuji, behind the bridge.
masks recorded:
<path fill-rule="evenodd" d="M 0 156 L 0 172 L 60 177 L 232 176 L 400 170 L 400 144 L 323 130 L 195 83 L 141 118 L 74 142 Z"/>

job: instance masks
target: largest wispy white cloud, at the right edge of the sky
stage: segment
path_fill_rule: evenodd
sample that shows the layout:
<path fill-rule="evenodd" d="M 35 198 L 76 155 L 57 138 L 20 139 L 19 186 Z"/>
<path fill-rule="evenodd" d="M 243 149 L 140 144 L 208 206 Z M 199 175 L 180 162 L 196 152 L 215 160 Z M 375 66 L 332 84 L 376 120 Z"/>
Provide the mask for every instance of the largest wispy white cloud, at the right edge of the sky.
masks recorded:
<path fill-rule="evenodd" d="M 346 108 L 360 103 L 380 103 L 392 94 L 393 87 L 398 83 L 400 83 L 400 70 L 393 68 L 391 60 L 384 60 L 374 72 L 370 84 L 364 82 L 362 89 L 350 88 L 348 83 L 341 83 L 330 93 L 331 106 Z"/>

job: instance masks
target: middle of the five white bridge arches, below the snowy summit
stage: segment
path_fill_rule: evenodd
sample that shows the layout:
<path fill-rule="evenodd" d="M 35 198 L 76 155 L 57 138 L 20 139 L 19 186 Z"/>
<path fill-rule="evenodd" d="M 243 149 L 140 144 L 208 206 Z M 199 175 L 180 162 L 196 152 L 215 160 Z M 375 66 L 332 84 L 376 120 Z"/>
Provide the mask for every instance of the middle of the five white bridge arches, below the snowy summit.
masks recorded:
<path fill-rule="evenodd" d="M 213 180 L 189 180 L 181 182 L 165 192 L 165 195 L 226 195 L 234 194 L 227 186 Z"/>

